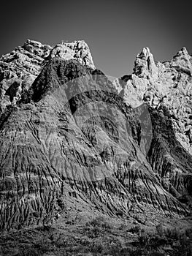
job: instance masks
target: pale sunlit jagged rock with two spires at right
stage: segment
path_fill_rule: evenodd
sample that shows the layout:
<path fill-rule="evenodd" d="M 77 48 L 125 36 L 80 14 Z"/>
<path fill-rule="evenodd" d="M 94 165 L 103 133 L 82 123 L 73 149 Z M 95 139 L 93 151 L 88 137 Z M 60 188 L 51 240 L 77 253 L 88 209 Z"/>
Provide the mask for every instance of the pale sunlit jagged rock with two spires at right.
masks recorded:
<path fill-rule="evenodd" d="M 172 119 L 177 140 L 191 154 L 192 59 L 186 48 L 172 61 L 154 61 L 148 48 L 137 56 L 132 75 L 113 83 L 133 108 L 146 102 Z"/>

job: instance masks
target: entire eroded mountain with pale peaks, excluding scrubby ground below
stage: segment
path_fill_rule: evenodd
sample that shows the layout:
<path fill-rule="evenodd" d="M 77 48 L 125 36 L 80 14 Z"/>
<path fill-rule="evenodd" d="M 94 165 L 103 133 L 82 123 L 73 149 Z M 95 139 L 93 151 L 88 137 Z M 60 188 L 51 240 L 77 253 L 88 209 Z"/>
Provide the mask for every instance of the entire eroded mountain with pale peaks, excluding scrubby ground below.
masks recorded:
<path fill-rule="evenodd" d="M 185 49 L 161 64 L 144 48 L 111 82 L 84 41 L 28 40 L 2 56 L 1 229 L 41 224 L 69 198 L 148 224 L 188 214 L 190 64 Z"/>

